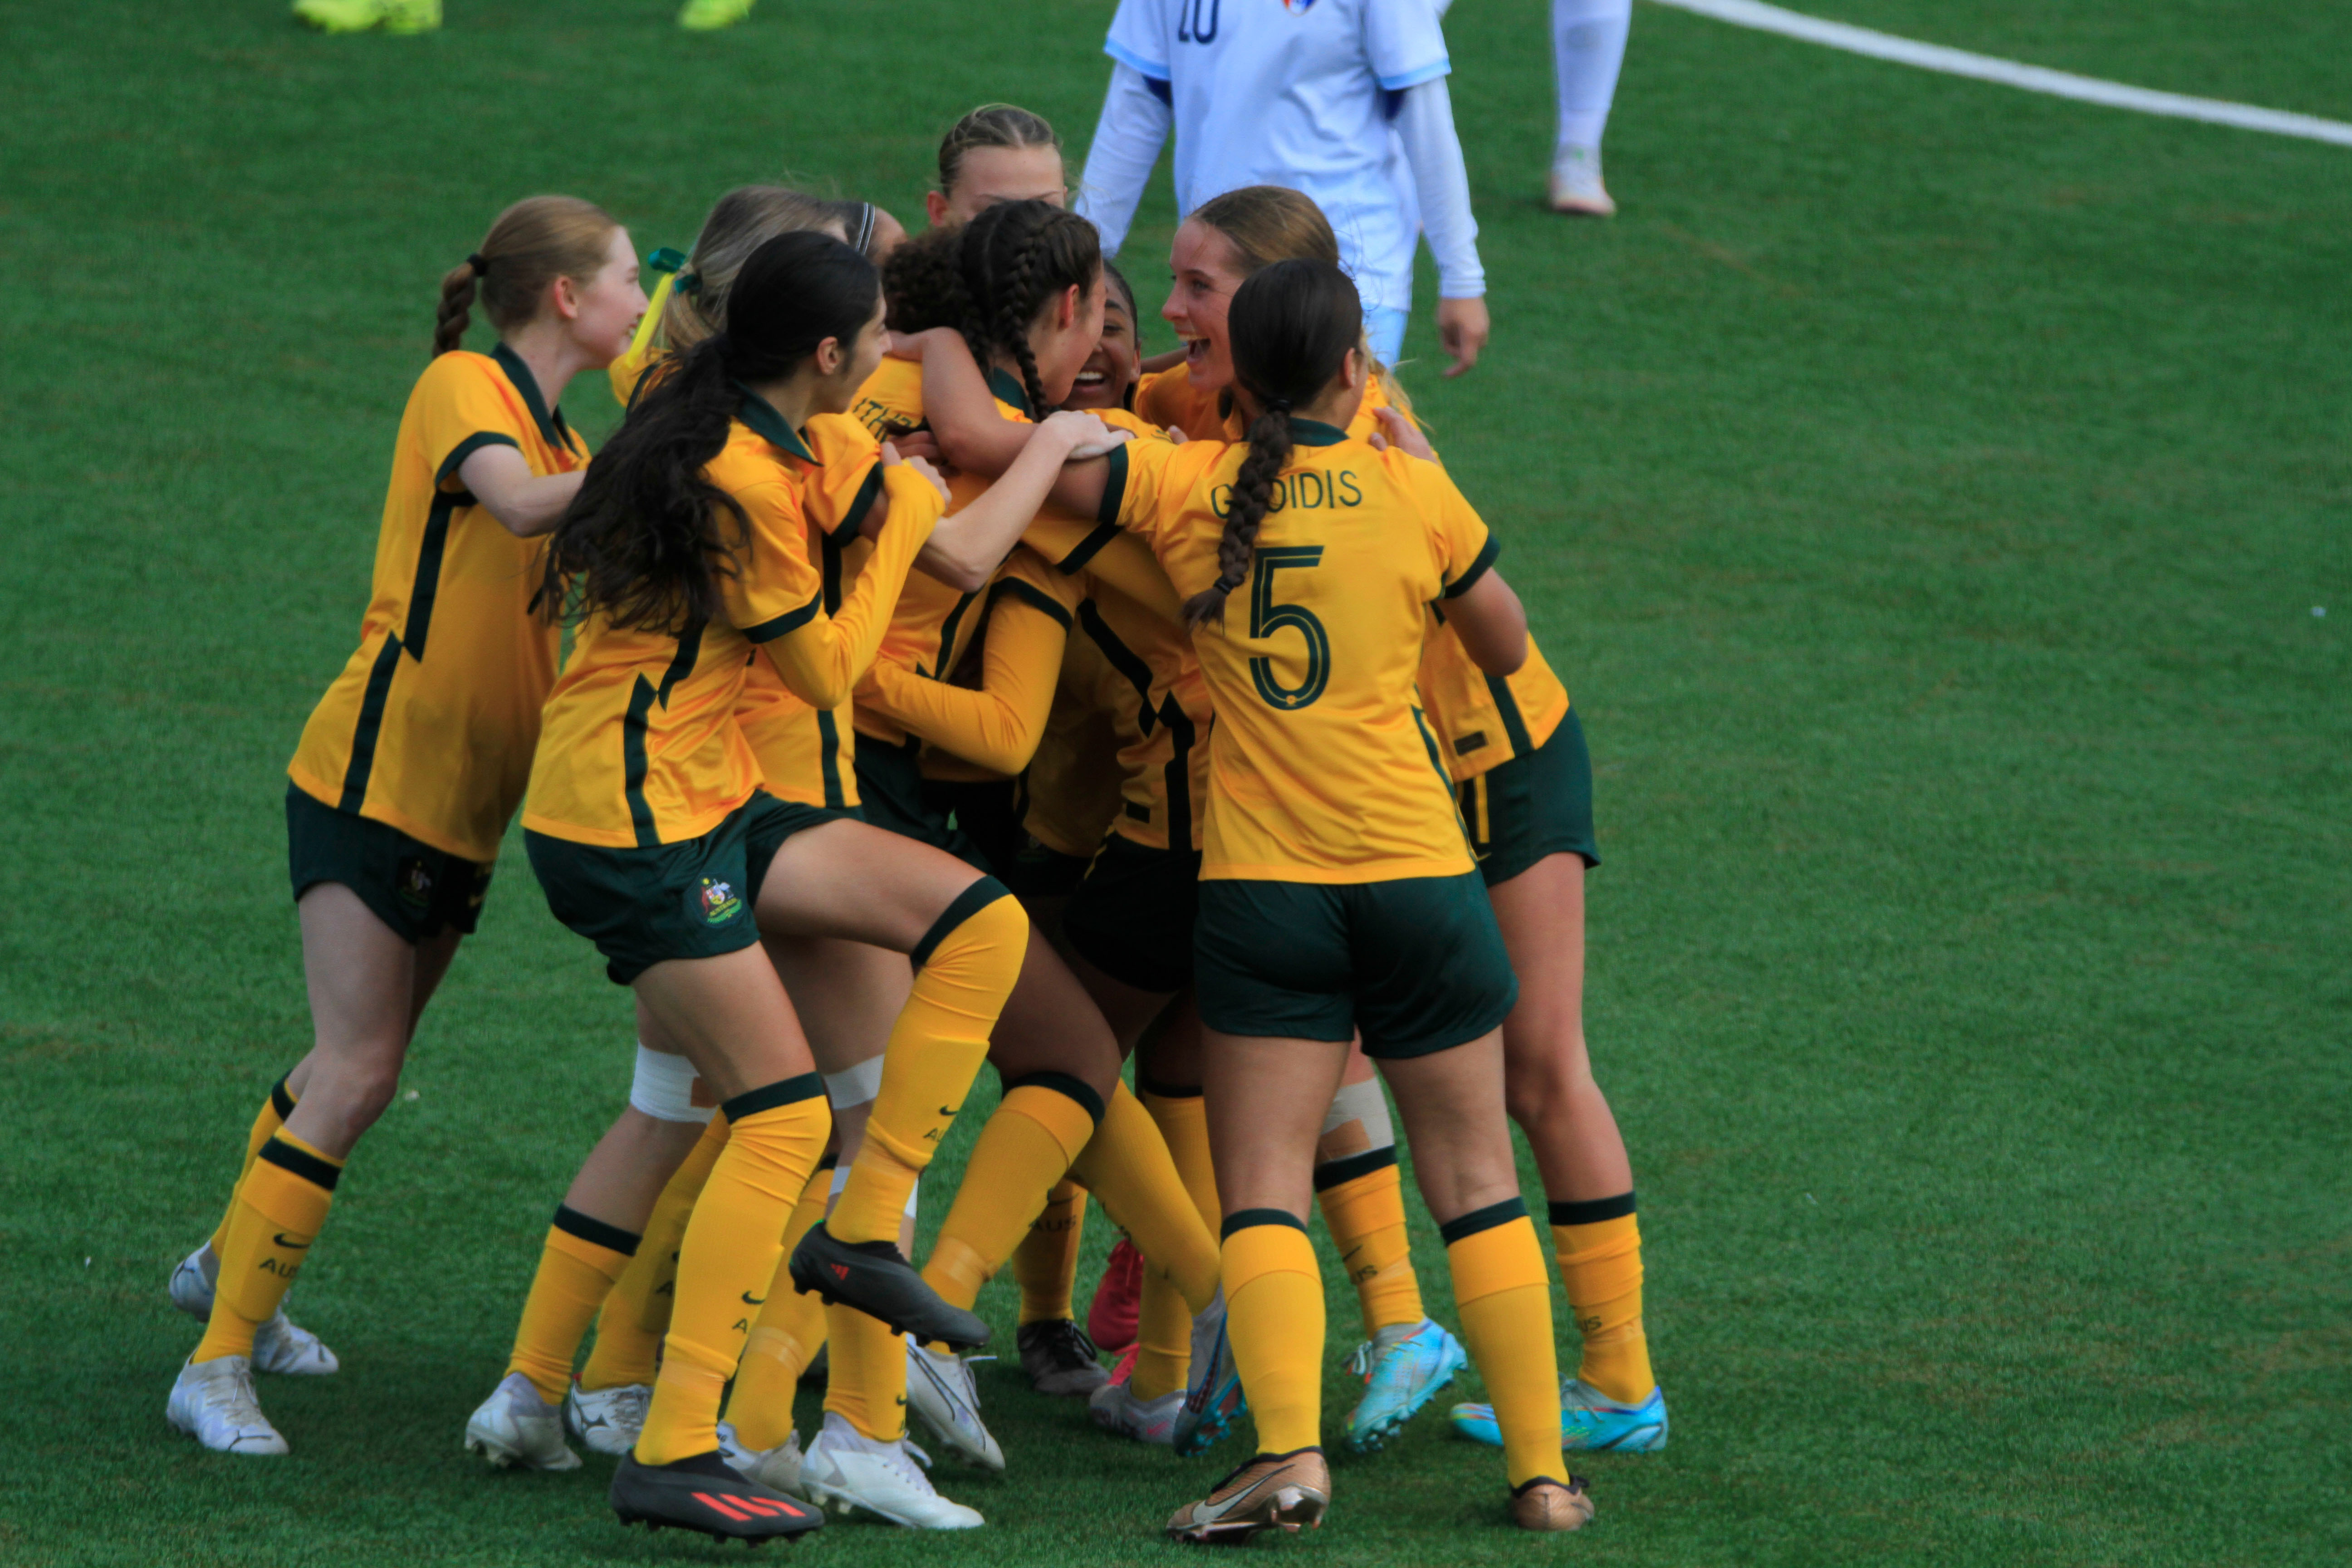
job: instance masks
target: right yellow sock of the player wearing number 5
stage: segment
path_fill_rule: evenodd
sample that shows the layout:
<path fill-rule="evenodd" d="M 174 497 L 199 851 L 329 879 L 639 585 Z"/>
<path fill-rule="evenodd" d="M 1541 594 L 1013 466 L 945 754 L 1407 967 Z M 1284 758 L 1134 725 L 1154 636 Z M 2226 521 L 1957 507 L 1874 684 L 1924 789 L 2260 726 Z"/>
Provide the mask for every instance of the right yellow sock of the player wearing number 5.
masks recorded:
<path fill-rule="evenodd" d="M 1463 1342 L 1486 1382 L 1503 1429 L 1512 1488 L 1536 1476 L 1566 1481 L 1559 1462 L 1559 1352 L 1552 1347 L 1552 1281 L 1526 1204 L 1508 1199 L 1437 1227 L 1454 1269 Z"/>

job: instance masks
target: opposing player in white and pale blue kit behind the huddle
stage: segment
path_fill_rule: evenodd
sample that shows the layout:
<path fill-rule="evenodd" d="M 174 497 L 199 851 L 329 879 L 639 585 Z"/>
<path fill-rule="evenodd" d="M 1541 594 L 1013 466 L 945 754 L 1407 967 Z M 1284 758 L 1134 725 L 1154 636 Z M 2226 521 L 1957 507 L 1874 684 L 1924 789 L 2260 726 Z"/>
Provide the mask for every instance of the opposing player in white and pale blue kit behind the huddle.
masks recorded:
<path fill-rule="evenodd" d="M 1486 270 L 1446 96 L 1435 0 L 1120 0 L 1115 61 L 1077 212 L 1115 256 L 1160 146 L 1176 132 L 1176 209 L 1242 186 L 1315 197 L 1364 296 L 1371 353 L 1395 364 L 1414 308 L 1418 228 L 1437 259 L 1449 376 L 1486 346 Z M 1390 134 L 1411 188 L 1390 176 Z"/>

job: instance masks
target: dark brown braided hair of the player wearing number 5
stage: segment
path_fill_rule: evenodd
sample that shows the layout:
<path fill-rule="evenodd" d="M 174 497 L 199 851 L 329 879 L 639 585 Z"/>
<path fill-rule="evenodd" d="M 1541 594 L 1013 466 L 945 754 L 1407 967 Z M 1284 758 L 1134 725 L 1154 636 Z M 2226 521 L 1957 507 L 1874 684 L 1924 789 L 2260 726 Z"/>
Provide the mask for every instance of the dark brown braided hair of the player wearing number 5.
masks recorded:
<path fill-rule="evenodd" d="M 1232 292 L 1232 381 L 1258 404 L 1249 456 L 1232 475 L 1225 534 L 1216 541 L 1216 583 L 1185 599 L 1185 625 L 1223 621 L 1225 599 L 1249 578 L 1258 524 L 1275 503 L 1275 480 L 1291 461 L 1291 409 L 1338 381 L 1364 336 L 1364 301 L 1329 261 L 1275 261 Z"/>

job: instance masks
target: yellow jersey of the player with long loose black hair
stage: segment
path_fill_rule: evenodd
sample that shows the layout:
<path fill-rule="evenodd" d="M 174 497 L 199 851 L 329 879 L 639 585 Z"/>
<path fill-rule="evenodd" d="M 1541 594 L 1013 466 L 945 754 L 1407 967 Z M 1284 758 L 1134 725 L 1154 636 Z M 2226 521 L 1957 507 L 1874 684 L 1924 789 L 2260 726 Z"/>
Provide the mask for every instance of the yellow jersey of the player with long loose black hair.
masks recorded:
<path fill-rule="evenodd" d="M 727 447 L 706 468 L 750 520 L 734 576 L 720 578 L 724 616 L 682 637 L 588 618 L 548 696 L 524 827 L 612 849 L 677 844 L 717 827 L 767 778 L 736 717 L 746 665 L 760 654 L 811 710 L 809 743 L 771 755 L 769 766 L 786 790 L 797 780 L 800 799 L 814 778 L 823 799 L 828 752 L 816 745 L 816 719 L 840 722 L 941 503 L 908 468 L 875 477 L 861 433 L 809 423 L 814 444 L 743 395 Z M 833 461 L 821 461 L 818 447 Z M 880 541 L 840 611 L 828 611 L 826 543 L 873 508 L 884 508 Z"/>

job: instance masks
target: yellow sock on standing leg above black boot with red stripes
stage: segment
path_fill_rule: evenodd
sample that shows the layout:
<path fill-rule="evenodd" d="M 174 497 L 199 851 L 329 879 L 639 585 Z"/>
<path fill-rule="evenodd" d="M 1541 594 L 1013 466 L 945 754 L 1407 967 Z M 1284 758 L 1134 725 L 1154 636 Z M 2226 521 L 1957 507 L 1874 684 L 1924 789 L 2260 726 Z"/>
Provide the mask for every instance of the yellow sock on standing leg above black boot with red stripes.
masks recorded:
<path fill-rule="evenodd" d="M 783 1225 L 833 1131 L 826 1081 L 814 1072 L 746 1091 L 720 1114 L 734 1126 L 677 1253 L 677 1305 L 637 1434 L 640 1465 L 717 1448 L 720 1394 L 776 1279 Z"/>

